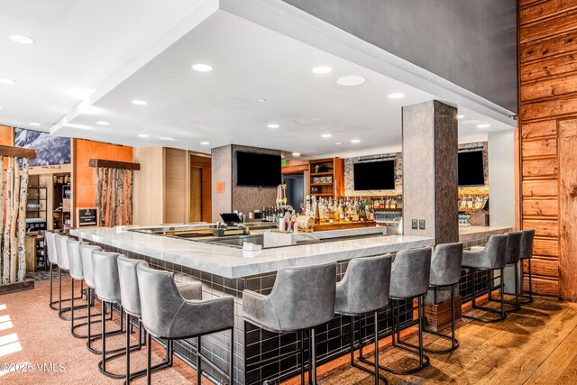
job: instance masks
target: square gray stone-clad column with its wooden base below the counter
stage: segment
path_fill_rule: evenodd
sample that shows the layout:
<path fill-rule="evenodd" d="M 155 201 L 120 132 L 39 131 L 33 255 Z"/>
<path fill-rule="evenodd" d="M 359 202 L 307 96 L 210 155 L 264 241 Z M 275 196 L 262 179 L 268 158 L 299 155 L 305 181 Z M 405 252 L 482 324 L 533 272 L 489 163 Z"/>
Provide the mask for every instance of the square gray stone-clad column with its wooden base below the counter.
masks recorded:
<path fill-rule="evenodd" d="M 457 109 L 432 100 L 405 106 L 402 114 L 403 234 L 432 237 L 435 244 L 458 242 Z M 447 315 L 450 321 L 450 296 L 450 289 L 439 289 L 436 298 L 429 292 L 428 328 L 445 325 Z M 460 297 L 455 298 L 455 312 L 461 316 Z"/>

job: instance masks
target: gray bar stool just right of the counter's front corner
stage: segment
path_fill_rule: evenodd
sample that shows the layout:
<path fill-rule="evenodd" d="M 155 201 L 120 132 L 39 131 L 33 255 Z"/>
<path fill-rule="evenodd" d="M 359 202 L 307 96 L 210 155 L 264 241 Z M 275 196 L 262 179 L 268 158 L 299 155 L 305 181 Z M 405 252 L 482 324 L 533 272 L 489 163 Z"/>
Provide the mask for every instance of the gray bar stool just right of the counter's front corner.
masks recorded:
<path fill-rule="evenodd" d="M 336 263 L 281 269 L 268 296 L 243 290 L 245 322 L 274 333 L 301 336 L 301 382 L 305 360 L 302 334 L 310 331 L 310 378 L 316 385 L 315 326 L 334 317 Z M 245 325 L 246 330 L 246 325 Z"/>

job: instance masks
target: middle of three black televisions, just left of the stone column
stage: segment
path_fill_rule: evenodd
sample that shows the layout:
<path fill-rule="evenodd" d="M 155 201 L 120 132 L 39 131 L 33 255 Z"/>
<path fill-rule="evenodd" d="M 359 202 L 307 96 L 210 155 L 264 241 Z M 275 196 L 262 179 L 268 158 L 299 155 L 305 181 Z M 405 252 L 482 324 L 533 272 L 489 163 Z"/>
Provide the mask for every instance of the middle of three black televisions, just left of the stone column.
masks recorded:
<path fill-rule="evenodd" d="M 353 184 L 356 191 L 394 189 L 395 160 L 354 163 Z"/>

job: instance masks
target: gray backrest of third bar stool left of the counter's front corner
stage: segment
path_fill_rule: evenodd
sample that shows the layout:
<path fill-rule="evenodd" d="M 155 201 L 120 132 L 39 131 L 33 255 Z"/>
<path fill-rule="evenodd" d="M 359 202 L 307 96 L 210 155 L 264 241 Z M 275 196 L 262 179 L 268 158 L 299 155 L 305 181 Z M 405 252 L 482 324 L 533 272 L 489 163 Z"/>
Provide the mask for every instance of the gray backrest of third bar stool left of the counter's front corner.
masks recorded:
<path fill-rule="evenodd" d="M 113 304 L 119 304 L 122 300 L 116 261 L 119 255 L 118 252 L 92 252 L 96 296 Z"/>

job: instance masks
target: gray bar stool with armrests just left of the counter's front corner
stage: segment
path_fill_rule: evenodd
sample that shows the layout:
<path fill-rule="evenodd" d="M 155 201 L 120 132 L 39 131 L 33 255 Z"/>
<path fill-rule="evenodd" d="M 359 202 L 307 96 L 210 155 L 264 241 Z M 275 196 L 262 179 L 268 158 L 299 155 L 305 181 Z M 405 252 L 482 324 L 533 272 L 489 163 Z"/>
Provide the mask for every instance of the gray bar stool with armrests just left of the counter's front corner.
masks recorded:
<path fill-rule="evenodd" d="M 139 263 L 138 289 L 141 298 L 142 325 L 148 332 L 146 379 L 151 384 L 151 336 L 169 341 L 197 338 L 197 384 L 202 380 L 202 360 L 234 383 L 234 298 L 207 300 L 197 297 L 194 286 L 177 287 L 169 271 L 154 270 Z M 185 297 L 186 296 L 186 297 Z M 188 298 L 187 298 L 188 297 Z M 202 354 L 202 336 L 230 331 L 230 365 L 222 371 Z"/>

